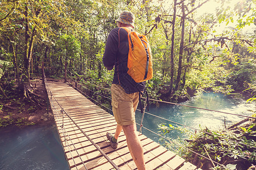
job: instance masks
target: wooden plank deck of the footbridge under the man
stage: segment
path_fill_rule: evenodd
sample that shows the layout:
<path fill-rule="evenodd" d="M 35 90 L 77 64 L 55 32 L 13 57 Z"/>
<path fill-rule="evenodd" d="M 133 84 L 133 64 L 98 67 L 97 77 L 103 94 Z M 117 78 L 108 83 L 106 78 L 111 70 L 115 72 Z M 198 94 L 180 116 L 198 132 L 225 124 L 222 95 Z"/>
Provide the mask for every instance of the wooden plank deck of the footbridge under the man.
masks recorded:
<path fill-rule="evenodd" d="M 119 169 L 137 169 L 122 132 L 116 150 L 106 132 L 115 132 L 114 117 L 63 82 L 47 82 L 48 97 L 70 169 L 114 169 L 86 135 Z M 68 116 L 67 116 L 67 114 Z M 174 152 L 139 135 L 146 169 L 197 169 Z"/>

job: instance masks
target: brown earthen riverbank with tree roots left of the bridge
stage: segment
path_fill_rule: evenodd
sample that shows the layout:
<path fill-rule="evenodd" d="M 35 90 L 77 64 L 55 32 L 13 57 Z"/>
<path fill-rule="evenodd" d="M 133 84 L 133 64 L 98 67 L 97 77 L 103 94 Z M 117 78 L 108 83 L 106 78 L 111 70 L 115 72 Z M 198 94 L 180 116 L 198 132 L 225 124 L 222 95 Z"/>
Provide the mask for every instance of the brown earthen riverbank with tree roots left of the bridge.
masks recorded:
<path fill-rule="evenodd" d="M 19 91 L 13 90 L 7 99 L 0 103 L 0 128 L 7 126 L 52 125 L 54 124 L 51 107 L 47 100 L 47 91 L 42 79 L 31 80 L 33 97 L 38 104 L 23 99 Z"/>

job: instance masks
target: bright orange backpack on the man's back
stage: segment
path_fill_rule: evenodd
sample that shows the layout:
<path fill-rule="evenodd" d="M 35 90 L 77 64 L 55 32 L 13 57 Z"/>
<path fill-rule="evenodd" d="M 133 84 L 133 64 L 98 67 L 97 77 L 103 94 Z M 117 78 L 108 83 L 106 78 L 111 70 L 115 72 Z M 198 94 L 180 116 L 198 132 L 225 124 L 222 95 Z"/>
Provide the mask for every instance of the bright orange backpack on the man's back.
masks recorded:
<path fill-rule="evenodd" d="M 152 56 L 147 37 L 129 28 L 122 27 L 128 33 L 129 54 L 127 73 L 135 82 L 141 83 L 153 77 Z"/>

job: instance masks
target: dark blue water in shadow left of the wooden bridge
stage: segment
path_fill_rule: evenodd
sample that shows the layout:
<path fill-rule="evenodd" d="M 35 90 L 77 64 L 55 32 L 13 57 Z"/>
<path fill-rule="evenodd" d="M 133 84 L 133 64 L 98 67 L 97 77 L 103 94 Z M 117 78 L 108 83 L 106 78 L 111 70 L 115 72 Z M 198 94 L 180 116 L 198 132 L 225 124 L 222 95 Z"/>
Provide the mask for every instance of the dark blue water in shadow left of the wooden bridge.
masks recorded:
<path fill-rule="evenodd" d="M 0 129 L 0 169 L 69 169 L 56 126 Z"/>

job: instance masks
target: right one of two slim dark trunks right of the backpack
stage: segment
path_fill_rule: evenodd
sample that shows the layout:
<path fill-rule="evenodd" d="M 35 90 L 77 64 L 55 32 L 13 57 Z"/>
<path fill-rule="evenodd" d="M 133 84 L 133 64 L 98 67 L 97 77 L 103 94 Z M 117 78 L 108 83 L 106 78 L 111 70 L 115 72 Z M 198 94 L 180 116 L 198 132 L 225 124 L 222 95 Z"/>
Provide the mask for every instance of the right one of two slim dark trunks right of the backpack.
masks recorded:
<path fill-rule="evenodd" d="M 185 34 L 185 7 L 184 7 L 184 2 L 182 3 L 181 11 L 182 11 L 181 40 L 180 40 L 179 65 L 178 65 L 178 70 L 177 70 L 177 79 L 176 79 L 175 91 L 179 90 L 180 78 L 181 78 L 181 72 L 182 72 L 183 46 L 184 46 L 184 34 Z"/>

